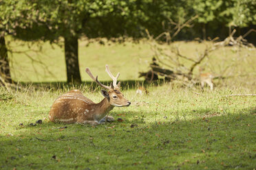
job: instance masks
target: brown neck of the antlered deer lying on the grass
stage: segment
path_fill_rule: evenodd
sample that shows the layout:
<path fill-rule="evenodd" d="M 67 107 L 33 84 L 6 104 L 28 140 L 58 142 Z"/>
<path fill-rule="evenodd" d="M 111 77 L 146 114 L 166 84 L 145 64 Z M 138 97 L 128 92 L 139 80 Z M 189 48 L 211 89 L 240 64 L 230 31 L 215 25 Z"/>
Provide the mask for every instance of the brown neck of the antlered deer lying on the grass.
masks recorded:
<path fill-rule="evenodd" d="M 100 121 L 107 113 L 112 110 L 114 106 L 109 104 L 109 100 L 105 97 L 100 103 L 96 105 L 96 119 Z"/>

